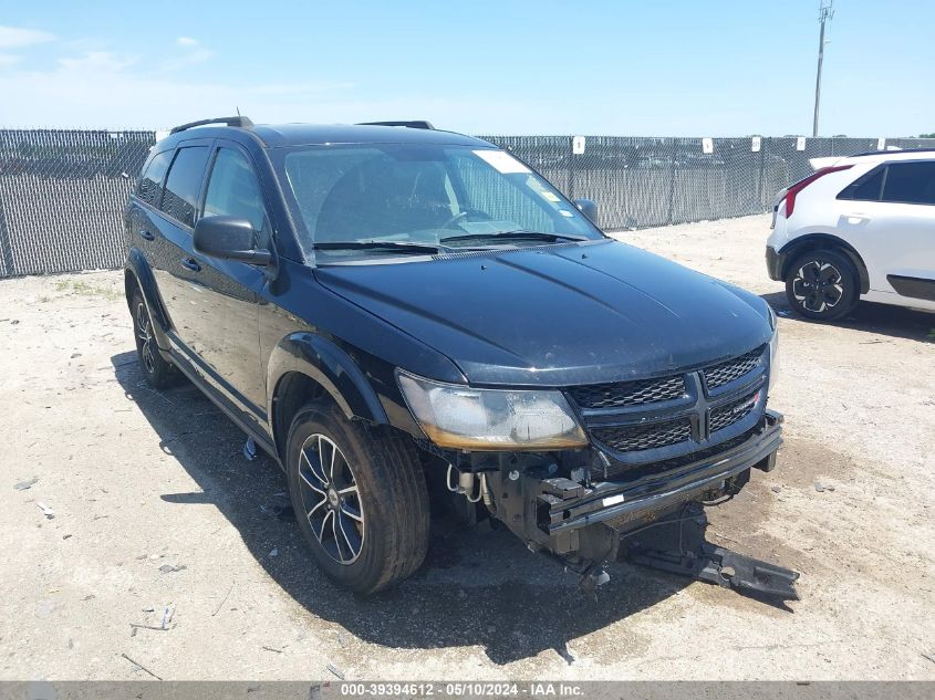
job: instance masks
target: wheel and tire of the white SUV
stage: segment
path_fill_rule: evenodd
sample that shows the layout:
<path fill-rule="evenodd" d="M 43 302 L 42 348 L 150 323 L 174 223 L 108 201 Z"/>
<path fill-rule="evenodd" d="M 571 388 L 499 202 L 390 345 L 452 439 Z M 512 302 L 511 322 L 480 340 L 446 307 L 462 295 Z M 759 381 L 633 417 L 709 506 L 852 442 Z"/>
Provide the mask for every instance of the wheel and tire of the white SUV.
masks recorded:
<path fill-rule="evenodd" d="M 860 300 L 860 278 L 844 253 L 813 250 L 789 265 L 786 297 L 800 316 L 834 321 L 850 313 Z"/>

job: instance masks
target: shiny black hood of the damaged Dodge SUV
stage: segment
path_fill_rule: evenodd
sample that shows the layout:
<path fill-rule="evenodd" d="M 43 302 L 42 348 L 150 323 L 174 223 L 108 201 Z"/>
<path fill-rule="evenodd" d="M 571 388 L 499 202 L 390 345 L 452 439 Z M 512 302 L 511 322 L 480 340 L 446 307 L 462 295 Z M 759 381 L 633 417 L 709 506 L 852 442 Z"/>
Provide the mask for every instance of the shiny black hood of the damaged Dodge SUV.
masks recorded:
<path fill-rule="evenodd" d="M 771 335 L 756 295 L 616 241 L 329 265 L 315 276 L 445 354 L 476 385 L 672 374 Z"/>

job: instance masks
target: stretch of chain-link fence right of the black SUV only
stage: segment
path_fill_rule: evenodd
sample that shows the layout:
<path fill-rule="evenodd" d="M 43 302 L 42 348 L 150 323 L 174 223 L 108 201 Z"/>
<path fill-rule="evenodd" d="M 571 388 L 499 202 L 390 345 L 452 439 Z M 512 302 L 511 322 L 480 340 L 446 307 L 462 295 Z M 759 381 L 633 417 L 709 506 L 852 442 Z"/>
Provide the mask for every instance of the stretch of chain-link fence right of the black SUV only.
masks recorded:
<path fill-rule="evenodd" d="M 570 198 L 593 199 L 605 230 L 760 213 L 780 189 L 812 173 L 811 158 L 935 148 L 932 138 L 482 138 L 508 148 Z"/>

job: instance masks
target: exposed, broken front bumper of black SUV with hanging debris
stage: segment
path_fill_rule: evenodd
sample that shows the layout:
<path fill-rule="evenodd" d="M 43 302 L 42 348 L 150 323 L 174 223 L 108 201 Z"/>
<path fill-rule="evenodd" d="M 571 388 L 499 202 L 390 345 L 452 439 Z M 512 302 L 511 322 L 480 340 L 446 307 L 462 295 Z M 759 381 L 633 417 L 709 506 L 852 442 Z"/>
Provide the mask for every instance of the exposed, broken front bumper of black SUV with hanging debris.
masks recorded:
<path fill-rule="evenodd" d="M 485 489 L 498 520 L 529 548 L 581 573 L 585 586 L 606 581 L 602 565 L 625 557 L 741 593 L 794 599 L 798 574 L 704 539 L 704 503 L 739 492 L 751 469 L 771 471 L 781 443 L 782 416 L 767 410 L 740 441 L 711 448 L 715 455 L 644 467 L 630 480 L 626 470 L 615 472 L 619 480 L 601 481 L 600 468 L 559 470 L 540 462 L 485 472 Z"/>

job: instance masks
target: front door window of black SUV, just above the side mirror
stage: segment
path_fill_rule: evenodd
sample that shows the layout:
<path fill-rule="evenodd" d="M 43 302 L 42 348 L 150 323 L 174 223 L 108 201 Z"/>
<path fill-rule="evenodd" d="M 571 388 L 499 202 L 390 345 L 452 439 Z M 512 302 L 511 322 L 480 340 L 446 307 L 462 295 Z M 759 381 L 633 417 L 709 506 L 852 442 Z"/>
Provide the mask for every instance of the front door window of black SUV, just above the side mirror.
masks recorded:
<path fill-rule="evenodd" d="M 247 219 L 258 233 L 264 229 L 263 198 L 253 166 L 247 157 L 232 148 L 220 148 L 205 195 L 206 217 L 239 217 Z M 259 247 L 268 240 L 261 236 Z"/>

